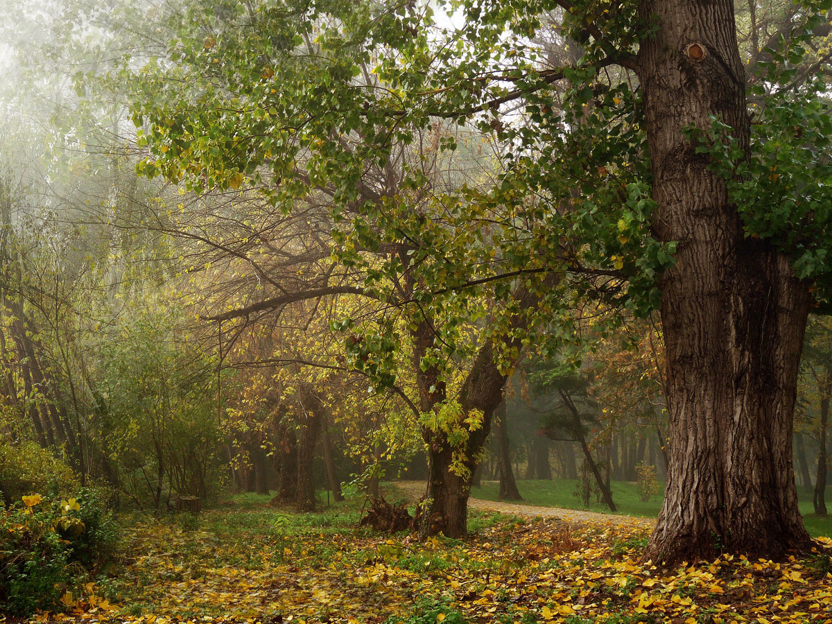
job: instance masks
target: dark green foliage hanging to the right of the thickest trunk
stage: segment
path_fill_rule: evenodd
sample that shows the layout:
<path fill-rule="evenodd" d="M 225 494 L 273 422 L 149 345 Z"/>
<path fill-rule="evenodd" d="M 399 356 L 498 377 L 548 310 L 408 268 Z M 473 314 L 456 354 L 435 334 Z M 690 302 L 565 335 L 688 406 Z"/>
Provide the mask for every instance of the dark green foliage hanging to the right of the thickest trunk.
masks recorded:
<path fill-rule="evenodd" d="M 817 2 L 790 32 L 765 48 L 768 58 L 758 63 L 759 75 L 750 84 L 754 109 L 751 157 L 747 158 L 730 128 L 714 119 L 706 131 L 690 129 L 696 151 L 711 156 L 709 166 L 729 182 L 745 235 L 771 240 L 791 257 L 798 277 L 811 280 L 815 297 L 826 302 L 830 293 L 830 160 L 829 94 L 825 80 L 805 75 L 814 62 L 816 32 L 825 23 L 829 2 Z M 828 42 L 823 45 L 828 46 Z"/>

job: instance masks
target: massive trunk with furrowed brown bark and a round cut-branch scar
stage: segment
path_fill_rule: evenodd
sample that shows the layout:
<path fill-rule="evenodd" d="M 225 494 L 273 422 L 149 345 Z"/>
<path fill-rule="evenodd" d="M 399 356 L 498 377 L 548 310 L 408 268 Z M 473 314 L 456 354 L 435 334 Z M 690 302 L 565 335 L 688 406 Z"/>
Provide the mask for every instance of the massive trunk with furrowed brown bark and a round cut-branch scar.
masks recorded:
<path fill-rule="evenodd" d="M 748 149 L 730 0 L 641 0 L 638 52 L 653 232 L 678 241 L 660 280 L 671 460 L 645 557 L 780 557 L 810 537 L 797 507 L 792 421 L 810 305 L 789 260 L 745 238 L 726 183 L 686 138 L 715 116 Z"/>

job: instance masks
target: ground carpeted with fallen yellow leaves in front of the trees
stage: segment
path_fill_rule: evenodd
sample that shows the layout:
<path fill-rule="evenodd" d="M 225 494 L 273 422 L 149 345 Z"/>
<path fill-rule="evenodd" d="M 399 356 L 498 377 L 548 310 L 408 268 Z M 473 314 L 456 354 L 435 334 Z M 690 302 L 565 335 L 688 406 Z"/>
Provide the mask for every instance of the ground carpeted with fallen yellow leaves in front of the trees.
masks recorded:
<path fill-rule="evenodd" d="M 67 612 L 35 621 L 832 624 L 828 539 L 787 562 L 720 557 L 660 570 L 641 562 L 649 527 L 632 518 L 475 508 L 468 539 L 418 542 L 358 527 L 361 500 L 307 514 L 268 501 L 240 495 L 198 516 L 122 518 L 120 564 L 72 588 Z"/>

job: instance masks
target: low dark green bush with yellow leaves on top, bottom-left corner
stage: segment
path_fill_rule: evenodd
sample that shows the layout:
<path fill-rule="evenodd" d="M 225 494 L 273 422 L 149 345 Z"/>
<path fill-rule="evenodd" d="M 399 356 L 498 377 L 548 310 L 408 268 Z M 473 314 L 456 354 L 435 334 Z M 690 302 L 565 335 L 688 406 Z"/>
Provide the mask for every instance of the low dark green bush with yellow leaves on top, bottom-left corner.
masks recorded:
<path fill-rule="evenodd" d="M 93 489 L 77 498 L 22 497 L 0 510 L 0 602 L 14 616 L 57 610 L 63 592 L 111 557 L 116 539 Z"/>

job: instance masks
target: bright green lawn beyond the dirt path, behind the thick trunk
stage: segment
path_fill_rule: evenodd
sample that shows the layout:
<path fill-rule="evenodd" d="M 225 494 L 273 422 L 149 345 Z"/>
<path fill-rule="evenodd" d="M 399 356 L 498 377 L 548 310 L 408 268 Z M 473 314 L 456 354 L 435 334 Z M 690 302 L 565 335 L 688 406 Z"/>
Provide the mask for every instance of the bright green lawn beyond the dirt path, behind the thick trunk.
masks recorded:
<path fill-rule="evenodd" d="M 484 498 L 489 501 L 498 500 L 498 482 L 483 482 L 482 488 L 473 488 L 471 495 L 476 498 Z M 540 507 L 560 507 L 567 509 L 583 509 L 574 496 L 577 488 L 577 479 L 546 479 L 520 480 L 518 489 L 522 495 L 523 502 L 527 505 Z M 661 497 L 664 495 L 664 486 L 660 484 L 659 494 L 646 503 L 638 499 L 636 483 L 626 481 L 613 481 L 612 500 L 616 503 L 618 513 L 626 516 L 638 516 L 641 518 L 656 518 L 661 508 Z M 803 514 L 803 521 L 806 529 L 815 537 L 832 537 L 832 516 L 821 517 L 813 513 L 811 498 L 800 492 L 800 513 Z M 827 489 L 826 500 L 832 502 L 832 487 Z M 589 511 L 599 513 L 611 513 L 607 505 L 597 503 L 594 500 L 589 505 Z"/>

